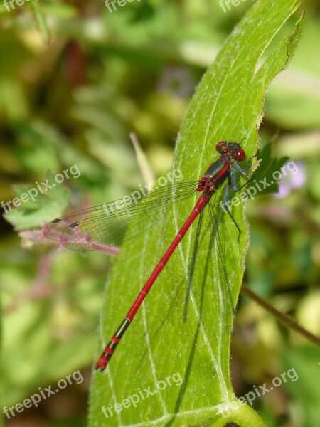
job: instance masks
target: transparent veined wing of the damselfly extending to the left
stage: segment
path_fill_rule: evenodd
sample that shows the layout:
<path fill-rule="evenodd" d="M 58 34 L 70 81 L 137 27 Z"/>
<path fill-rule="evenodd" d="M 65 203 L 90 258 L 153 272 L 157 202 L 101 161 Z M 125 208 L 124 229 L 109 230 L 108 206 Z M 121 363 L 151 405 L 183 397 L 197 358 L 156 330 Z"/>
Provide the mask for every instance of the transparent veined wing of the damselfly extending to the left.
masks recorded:
<path fill-rule="evenodd" d="M 154 226 L 170 206 L 195 194 L 197 185 L 198 181 L 169 184 L 139 201 L 125 196 L 57 218 L 45 226 L 43 233 L 73 251 L 117 246 Z"/>

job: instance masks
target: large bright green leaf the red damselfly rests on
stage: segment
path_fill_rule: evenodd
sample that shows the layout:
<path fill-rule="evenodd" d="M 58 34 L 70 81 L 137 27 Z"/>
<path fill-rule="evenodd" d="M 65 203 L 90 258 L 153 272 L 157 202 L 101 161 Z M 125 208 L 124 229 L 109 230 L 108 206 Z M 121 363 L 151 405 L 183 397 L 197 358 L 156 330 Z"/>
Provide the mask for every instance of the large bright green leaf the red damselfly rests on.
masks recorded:
<path fill-rule="evenodd" d="M 291 35 L 278 33 L 298 6 L 296 1 L 258 1 L 231 33 L 198 86 L 181 125 L 173 169 L 181 169 L 183 180 L 193 181 L 203 174 L 217 158 L 215 144 L 222 139 L 245 137 L 247 158 L 254 154 L 267 84 L 292 56 L 302 19 Z M 272 48 L 262 62 L 271 41 Z M 247 228 L 242 206 L 235 206 L 233 216 L 242 229 L 238 241 L 237 229 L 219 207 L 223 197 L 223 189 L 213 196 L 215 217 L 222 220 L 219 239 L 210 241 L 214 235 L 209 233 L 208 212 L 203 216 L 186 322 L 183 305 L 196 226 L 169 260 L 106 371 L 95 372 L 90 426 L 223 426 L 228 421 L 263 425 L 235 398 L 230 381 L 230 297 L 235 306 Z M 106 290 L 97 356 L 195 200 L 175 206 L 171 216 L 122 247 Z M 224 254 L 225 264 L 218 252 Z M 148 395 L 148 389 L 154 393 Z"/>

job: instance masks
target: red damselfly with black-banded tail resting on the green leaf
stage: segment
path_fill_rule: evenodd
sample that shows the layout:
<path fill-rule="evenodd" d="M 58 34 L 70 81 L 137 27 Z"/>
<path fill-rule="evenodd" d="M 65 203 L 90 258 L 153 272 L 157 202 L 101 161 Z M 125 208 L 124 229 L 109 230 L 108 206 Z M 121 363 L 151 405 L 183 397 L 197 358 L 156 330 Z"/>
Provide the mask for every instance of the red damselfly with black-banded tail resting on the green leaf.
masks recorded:
<path fill-rule="evenodd" d="M 247 170 L 245 171 L 238 164 L 238 162 L 242 162 L 242 160 L 245 159 L 245 151 L 240 147 L 240 144 L 221 141 L 218 142 L 215 148 L 220 154 L 220 157 L 210 164 L 210 167 L 208 167 L 205 174 L 203 174 L 203 177 L 198 181 L 169 184 L 164 188 L 156 189 L 144 196 L 144 198 L 139 201 L 139 204 L 133 204 L 132 201 L 130 203 L 129 199 L 127 199 L 127 201 L 124 201 L 124 199 L 122 201 L 114 201 L 91 209 L 65 215 L 46 225 L 44 235 L 47 238 L 61 241 L 66 248 L 80 251 L 109 248 L 110 246 L 117 246 L 122 243 L 122 241 L 127 241 L 143 233 L 147 228 L 153 226 L 166 215 L 169 206 L 192 196 L 196 191 L 201 193 L 191 214 L 186 219 L 180 231 L 176 234 L 176 237 L 156 265 L 156 268 L 154 268 L 154 271 L 139 292 L 136 300 L 134 300 L 132 307 L 129 309 L 129 312 L 127 312 L 121 325 L 114 335 L 112 335 L 110 342 L 108 342 L 95 364 L 95 369 L 100 371 L 105 369 L 120 339 L 122 339 L 124 332 L 128 329 L 130 323 L 137 314 L 139 307 L 142 305 L 149 290 L 151 290 L 161 270 L 163 270 L 172 253 L 174 253 L 176 247 L 193 222 L 199 214 L 203 213 L 203 209 L 210 201 L 213 193 L 215 193 L 225 181 L 227 181 L 228 184 L 225 191 L 224 209 L 228 212 L 233 223 L 238 228 L 240 236 L 240 228 L 228 208 L 228 201 L 232 186 L 234 191 L 240 191 L 240 189 L 247 184 L 248 181 L 244 185 L 238 187 L 237 174 L 240 173 L 243 176 L 248 176 L 252 157 L 249 159 Z M 201 221 L 199 221 L 198 227 L 200 225 Z M 186 305 L 191 287 L 192 270 L 196 261 L 195 253 L 197 245 L 198 242 L 196 241 L 191 263 L 191 275 L 188 280 Z"/>

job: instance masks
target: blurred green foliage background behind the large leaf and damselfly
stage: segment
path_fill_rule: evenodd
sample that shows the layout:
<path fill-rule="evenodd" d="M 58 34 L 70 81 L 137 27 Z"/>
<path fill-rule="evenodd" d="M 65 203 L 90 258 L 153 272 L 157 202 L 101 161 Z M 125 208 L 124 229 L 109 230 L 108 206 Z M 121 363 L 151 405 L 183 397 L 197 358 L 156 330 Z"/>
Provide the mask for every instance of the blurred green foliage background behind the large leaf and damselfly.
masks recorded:
<path fill-rule="evenodd" d="M 11 11 L 1 4 L 0 202 L 14 198 L 12 185 L 33 187 L 73 164 L 81 175 L 57 186 L 61 203 L 35 220 L 38 228 L 67 203 L 71 211 L 124 196 L 143 183 L 131 131 L 156 176 L 166 172 L 195 86 L 251 5 L 242 2 L 224 13 L 213 0 L 145 0 L 111 14 L 101 1 L 26 1 Z M 279 196 L 247 202 L 246 282 L 319 334 L 319 3 L 304 7 L 301 43 L 270 86 L 260 128 L 261 147 L 272 142 L 275 157 L 294 160 L 299 179 L 280 184 Z M 33 221 L 37 214 L 30 208 Z M 36 233 L 19 247 L 3 218 L 0 231 L 2 406 L 82 369 L 85 381 L 68 386 L 65 404 L 58 395 L 11 421 L 84 426 L 102 295 L 114 259 L 55 251 Z M 268 425 L 317 426 L 317 361 L 319 352 L 304 338 L 240 300 L 231 364 L 237 396 L 292 367 L 299 374 L 254 402 Z"/>

